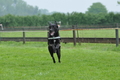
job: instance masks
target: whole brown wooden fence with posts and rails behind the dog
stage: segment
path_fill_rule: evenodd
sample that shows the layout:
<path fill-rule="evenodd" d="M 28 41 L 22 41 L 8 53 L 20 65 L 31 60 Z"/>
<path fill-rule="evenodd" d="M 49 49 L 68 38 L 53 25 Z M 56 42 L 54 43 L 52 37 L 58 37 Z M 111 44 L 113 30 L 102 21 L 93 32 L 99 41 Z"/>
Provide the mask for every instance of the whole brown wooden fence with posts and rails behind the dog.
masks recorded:
<path fill-rule="evenodd" d="M 115 29 L 115 38 L 80 38 L 78 34 L 78 30 L 84 30 L 84 29 Z M 61 41 L 64 43 L 67 42 L 73 42 L 74 46 L 76 46 L 76 43 L 82 43 L 82 42 L 89 42 L 89 43 L 116 43 L 116 46 L 119 46 L 119 25 L 116 24 L 116 27 L 100 27 L 100 28 L 78 28 L 77 25 L 73 25 L 71 29 L 63 29 L 63 30 L 70 30 L 73 32 L 73 37 L 72 38 L 61 38 Z M 11 29 L 12 30 L 12 29 Z M 9 30 L 9 31 L 11 31 Z M 23 44 L 26 43 L 26 41 L 47 41 L 46 37 L 26 37 L 26 31 L 24 28 L 20 29 L 23 31 L 23 37 L 19 38 L 4 38 L 0 37 L 0 41 L 23 41 Z M 35 29 L 37 30 L 37 29 Z M 2 30 L 4 31 L 4 30 Z M 7 30 L 5 30 L 7 31 Z M 16 29 L 13 29 L 12 31 L 19 31 Z"/>

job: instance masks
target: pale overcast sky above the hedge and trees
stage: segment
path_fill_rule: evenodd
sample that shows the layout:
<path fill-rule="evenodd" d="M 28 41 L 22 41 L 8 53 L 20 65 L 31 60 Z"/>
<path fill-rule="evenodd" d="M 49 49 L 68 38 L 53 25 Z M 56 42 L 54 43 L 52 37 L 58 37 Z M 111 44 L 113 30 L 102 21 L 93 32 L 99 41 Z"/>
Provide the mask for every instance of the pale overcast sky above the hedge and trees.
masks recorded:
<path fill-rule="evenodd" d="M 101 2 L 108 12 L 120 12 L 120 0 L 23 0 L 28 5 L 38 6 L 39 9 L 47 9 L 49 12 L 57 11 L 63 13 L 82 12 L 96 2 Z"/>

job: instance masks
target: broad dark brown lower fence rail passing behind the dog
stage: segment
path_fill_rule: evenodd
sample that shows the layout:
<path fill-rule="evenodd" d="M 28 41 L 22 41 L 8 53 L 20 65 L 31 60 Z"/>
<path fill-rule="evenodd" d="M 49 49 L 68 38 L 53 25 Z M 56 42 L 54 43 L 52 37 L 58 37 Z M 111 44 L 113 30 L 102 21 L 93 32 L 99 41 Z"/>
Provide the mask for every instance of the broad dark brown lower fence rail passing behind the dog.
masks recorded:
<path fill-rule="evenodd" d="M 0 41 L 38 41 L 38 42 L 47 42 L 46 37 L 0 37 Z M 73 43 L 73 38 L 63 37 L 61 42 L 63 43 Z M 76 38 L 77 43 L 116 43 L 116 38 Z"/>

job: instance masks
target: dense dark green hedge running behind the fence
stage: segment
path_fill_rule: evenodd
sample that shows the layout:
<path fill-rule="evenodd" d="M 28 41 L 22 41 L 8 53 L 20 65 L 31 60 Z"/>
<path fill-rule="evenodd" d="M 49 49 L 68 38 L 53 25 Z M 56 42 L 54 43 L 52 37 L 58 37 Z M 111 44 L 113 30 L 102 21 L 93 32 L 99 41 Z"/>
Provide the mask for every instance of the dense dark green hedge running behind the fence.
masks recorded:
<path fill-rule="evenodd" d="M 62 25 L 93 25 L 120 23 L 119 13 L 54 13 L 52 15 L 16 16 L 5 15 L 0 17 L 0 24 L 6 27 L 47 26 L 49 21 L 61 21 Z"/>

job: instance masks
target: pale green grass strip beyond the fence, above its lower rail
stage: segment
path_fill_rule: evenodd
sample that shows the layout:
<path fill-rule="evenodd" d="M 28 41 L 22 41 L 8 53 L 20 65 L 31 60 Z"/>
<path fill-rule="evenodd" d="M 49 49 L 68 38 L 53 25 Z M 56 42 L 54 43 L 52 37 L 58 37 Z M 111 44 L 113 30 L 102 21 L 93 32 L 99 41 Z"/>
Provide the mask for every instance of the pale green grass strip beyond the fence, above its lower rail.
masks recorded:
<path fill-rule="evenodd" d="M 47 37 L 47 31 L 26 31 L 26 37 Z M 77 31 L 76 31 L 77 34 Z M 115 38 L 115 29 L 79 30 L 79 37 Z M 120 33 L 119 33 L 120 35 Z M 23 32 L 0 32 L 0 37 L 22 37 Z M 73 31 L 60 31 L 61 37 L 73 37 Z"/>

